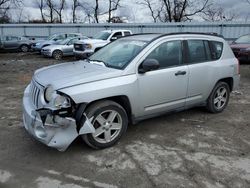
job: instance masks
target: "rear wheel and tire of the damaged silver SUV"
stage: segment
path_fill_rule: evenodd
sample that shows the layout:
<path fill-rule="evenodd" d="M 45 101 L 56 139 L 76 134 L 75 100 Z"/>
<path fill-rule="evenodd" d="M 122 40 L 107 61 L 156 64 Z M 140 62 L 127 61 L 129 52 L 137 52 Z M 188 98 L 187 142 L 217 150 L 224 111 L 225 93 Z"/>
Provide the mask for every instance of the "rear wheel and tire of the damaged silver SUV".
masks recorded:
<path fill-rule="evenodd" d="M 229 85 L 226 82 L 218 82 L 207 100 L 207 109 L 211 113 L 222 112 L 228 104 L 230 96 Z"/>

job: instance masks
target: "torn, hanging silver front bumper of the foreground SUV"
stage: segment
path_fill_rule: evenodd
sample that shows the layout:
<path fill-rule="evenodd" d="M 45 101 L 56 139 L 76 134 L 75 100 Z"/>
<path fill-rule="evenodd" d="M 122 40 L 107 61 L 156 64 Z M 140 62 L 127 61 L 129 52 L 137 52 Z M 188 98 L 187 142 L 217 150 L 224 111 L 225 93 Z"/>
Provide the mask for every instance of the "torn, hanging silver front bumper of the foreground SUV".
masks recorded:
<path fill-rule="evenodd" d="M 46 112 L 48 113 L 45 114 Z M 28 86 L 23 97 L 23 123 L 25 129 L 36 140 L 59 151 L 65 151 L 78 135 L 95 132 L 87 117 L 83 126 L 78 130 L 74 118 L 61 117 L 51 112 L 49 109 L 35 109 Z"/>

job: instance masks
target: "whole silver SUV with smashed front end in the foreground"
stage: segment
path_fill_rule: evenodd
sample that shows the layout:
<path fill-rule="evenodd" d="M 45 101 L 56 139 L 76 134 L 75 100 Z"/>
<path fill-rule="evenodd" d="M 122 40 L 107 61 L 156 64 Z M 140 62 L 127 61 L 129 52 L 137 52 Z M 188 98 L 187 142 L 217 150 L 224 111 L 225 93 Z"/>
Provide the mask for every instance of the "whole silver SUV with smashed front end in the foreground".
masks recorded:
<path fill-rule="evenodd" d="M 24 126 L 60 151 L 79 135 L 93 148 L 106 148 L 129 123 L 194 106 L 222 112 L 239 78 L 223 38 L 133 35 L 84 61 L 36 71 L 24 92 Z"/>

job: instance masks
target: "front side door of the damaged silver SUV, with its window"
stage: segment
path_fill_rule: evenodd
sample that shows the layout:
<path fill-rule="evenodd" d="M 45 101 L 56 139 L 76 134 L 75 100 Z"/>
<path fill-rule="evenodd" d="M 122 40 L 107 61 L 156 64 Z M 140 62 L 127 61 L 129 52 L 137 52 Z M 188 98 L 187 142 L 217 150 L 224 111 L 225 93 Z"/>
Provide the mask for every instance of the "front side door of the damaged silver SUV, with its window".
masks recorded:
<path fill-rule="evenodd" d="M 182 61 L 182 40 L 160 44 L 146 59 L 156 59 L 160 68 L 138 74 L 142 115 L 183 108 L 189 74 L 188 66 Z"/>

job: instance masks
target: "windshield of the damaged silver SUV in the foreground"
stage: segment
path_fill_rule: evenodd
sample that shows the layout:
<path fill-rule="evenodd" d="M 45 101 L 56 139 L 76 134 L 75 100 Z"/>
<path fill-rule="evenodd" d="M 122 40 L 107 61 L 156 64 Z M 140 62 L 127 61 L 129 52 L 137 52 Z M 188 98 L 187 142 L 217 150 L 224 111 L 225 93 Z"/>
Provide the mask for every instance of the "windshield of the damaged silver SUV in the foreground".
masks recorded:
<path fill-rule="evenodd" d="M 107 67 L 123 69 L 146 44 L 147 42 L 139 40 L 118 40 L 94 53 L 89 60 L 103 62 Z"/>

